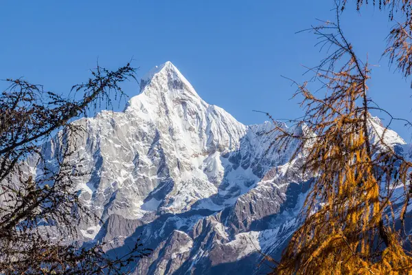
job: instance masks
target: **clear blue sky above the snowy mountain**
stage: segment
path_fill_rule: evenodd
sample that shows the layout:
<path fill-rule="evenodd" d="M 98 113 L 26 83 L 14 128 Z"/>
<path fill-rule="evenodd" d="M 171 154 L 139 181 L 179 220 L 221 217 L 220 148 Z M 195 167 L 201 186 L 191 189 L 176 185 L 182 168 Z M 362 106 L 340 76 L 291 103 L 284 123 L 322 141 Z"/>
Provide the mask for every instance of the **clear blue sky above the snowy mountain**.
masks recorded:
<path fill-rule="evenodd" d="M 88 69 L 115 69 L 130 58 L 138 74 L 172 61 L 198 94 L 244 124 L 301 114 L 288 76 L 301 81 L 301 65 L 317 65 L 312 34 L 295 32 L 333 20 L 333 0 L 130 0 L 130 1 L 1 1 L 0 78 L 24 76 L 46 89 L 69 91 L 86 80 Z M 411 119 L 410 79 L 393 74 L 380 60 L 392 23 L 369 6 L 343 16 L 343 29 L 358 55 L 369 55 L 373 68 L 372 98 L 393 115 Z M 138 94 L 128 83 L 129 96 Z M 120 109 L 125 102 L 122 102 Z M 411 141 L 411 131 L 393 125 Z"/>

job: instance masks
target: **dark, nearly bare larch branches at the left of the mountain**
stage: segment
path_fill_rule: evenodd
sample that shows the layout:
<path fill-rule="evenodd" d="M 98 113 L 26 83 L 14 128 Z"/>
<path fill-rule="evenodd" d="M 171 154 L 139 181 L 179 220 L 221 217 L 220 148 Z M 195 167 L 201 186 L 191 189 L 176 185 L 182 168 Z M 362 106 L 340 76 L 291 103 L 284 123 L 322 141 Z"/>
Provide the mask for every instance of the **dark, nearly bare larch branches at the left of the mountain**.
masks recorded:
<path fill-rule="evenodd" d="M 76 179 L 84 173 L 72 144 L 84 129 L 70 122 L 96 104 L 110 105 L 113 95 L 124 96 L 120 85 L 135 78 L 135 68 L 98 66 L 91 74 L 72 88 L 80 100 L 26 80 L 5 80 L 9 86 L 0 94 L 0 274 L 125 274 L 131 261 L 150 253 L 137 240 L 128 254 L 111 259 L 104 243 L 68 241 L 76 239 L 83 219 L 99 221 L 78 196 Z M 50 166 L 41 144 L 56 133 L 58 153 Z"/>

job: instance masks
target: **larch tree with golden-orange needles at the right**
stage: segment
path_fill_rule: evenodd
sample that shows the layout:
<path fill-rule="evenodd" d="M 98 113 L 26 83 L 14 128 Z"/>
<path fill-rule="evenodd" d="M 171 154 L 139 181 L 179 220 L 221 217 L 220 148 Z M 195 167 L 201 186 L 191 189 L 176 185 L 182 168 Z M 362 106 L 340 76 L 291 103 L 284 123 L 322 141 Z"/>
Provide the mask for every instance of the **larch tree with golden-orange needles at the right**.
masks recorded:
<path fill-rule="evenodd" d="M 362 3 L 358 1 L 359 6 Z M 295 83 L 295 96 L 303 97 L 305 112 L 297 124 L 306 134 L 274 129 L 281 145 L 300 140 L 295 154 L 306 155 L 301 168 L 313 181 L 301 210 L 301 226 L 272 274 L 412 274 L 412 256 L 404 249 L 409 236 L 403 230 L 412 195 L 412 163 L 387 144 L 388 128 L 381 133 L 371 123 L 369 112 L 384 110 L 369 96 L 369 65 L 358 58 L 341 29 L 344 8 L 336 4 L 335 23 L 325 21 L 310 29 L 332 54 L 310 69 L 321 85 L 317 93 L 308 83 Z M 407 76 L 412 56 L 399 35 L 404 37 L 391 32 L 385 53 Z M 390 125 L 396 118 L 389 116 Z M 371 135 L 376 142 L 371 142 Z M 400 197 L 394 195 L 396 188 L 403 188 Z"/>

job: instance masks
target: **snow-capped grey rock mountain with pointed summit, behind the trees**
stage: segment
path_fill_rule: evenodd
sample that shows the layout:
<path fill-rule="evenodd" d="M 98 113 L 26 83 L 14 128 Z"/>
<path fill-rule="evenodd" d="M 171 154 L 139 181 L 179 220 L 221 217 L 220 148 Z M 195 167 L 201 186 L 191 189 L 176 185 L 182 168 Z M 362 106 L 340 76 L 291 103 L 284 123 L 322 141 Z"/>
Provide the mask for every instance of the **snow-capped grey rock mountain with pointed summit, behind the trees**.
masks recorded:
<path fill-rule="evenodd" d="M 141 238 L 154 252 L 134 274 L 264 272 L 260 252 L 279 257 L 297 227 L 308 177 L 303 156 L 288 162 L 296 144 L 280 150 L 271 123 L 246 126 L 207 104 L 170 62 L 142 78 L 124 111 L 73 123 L 86 129 L 73 144 L 89 172 L 80 197 L 104 221 L 82 224 L 83 241 L 122 254 Z M 56 142 L 43 147 L 51 162 Z"/>

